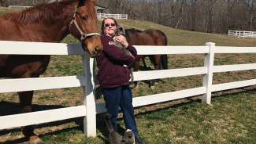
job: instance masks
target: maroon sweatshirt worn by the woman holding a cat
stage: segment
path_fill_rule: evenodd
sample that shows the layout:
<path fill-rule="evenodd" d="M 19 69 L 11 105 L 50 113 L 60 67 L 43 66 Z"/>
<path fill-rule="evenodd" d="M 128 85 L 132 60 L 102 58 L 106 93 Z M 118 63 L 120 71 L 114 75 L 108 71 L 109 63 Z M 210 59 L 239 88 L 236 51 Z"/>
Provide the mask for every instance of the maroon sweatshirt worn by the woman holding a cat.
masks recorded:
<path fill-rule="evenodd" d="M 103 51 L 96 58 L 99 85 L 103 88 L 128 85 L 131 78 L 131 71 L 129 68 L 123 67 L 123 64 L 131 64 L 135 62 L 135 59 L 132 56 L 137 55 L 136 49 L 129 44 L 126 49 L 132 53 L 132 56 L 128 56 L 121 52 L 117 46 L 109 45 L 109 41 L 113 41 L 113 39 L 106 34 L 102 34 L 101 40 Z"/>

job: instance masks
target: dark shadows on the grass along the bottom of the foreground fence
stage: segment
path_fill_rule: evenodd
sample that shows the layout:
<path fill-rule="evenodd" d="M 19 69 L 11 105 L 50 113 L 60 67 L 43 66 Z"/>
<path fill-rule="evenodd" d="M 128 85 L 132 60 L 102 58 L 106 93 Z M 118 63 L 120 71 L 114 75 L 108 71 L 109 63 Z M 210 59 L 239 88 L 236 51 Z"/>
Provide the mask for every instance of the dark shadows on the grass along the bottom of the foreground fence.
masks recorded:
<path fill-rule="evenodd" d="M 244 92 L 256 92 L 256 88 L 250 89 L 250 90 L 245 90 L 244 88 L 236 88 L 236 89 L 243 89 L 243 92 L 234 92 L 232 94 L 224 94 L 224 95 L 217 95 L 217 96 L 212 96 L 212 99 L 217 99 L 220 97 L 225 97 L 227 95 L 236 95 L 236 94 L 241 94 Z M 221 92 L 228 92 L 230 90 L 227 91 L 221 91 Z M 213 92 L 213 94 L 216 92 Z M 198 96 L 198 95 L 195 95 Z M 147 112 L 140 112 L 136 115 L 146 115 L 146 114 L 150 114 L 150 113 L 154 113 L 154 112 L 158 112 L 161 110 L 169 110 L 170 108 L 177 108 L 180 106 L 184 106 L 187 104 L 191 104 L 194 102 L 198 102 L 201 103 L 201 99 L 192 99 L 192 97 L 195 96 L 191 96 L 191 97 L 187 97 L 185 99 L 189 100 L 189 102 L 184 102 L 184 103 L 177 103 L 173 106 L 166 106 L 164 108 L 159 108 L 157 110 L 149 110 Z M 178 99 L 176 99 L 178 100 Z M 172 101 L 176 101 L 176 100 L 172 100 Z M 167 102 L 163 102 L 161 104 L 164 103 L 169 103 L 172 101 L 167 101 Z M 147 106 L 154 106 L 155 104 L 159 104 L 159 103 L 154 103 L 152 105 L 147 105 Z M 1 101 L 0 102 L 0 106 L 1 106 L 1 116 L 6 116 L 6 115 L 11 115 L 11 114 L 17 114 L 20 113 L 20 103 L 9 103 L 6 101 Z M 32 105 L 32 109 L 33 111 L 40 111 L 40 110 L 53 110 L 53 109 L 58 109 L 58 108 L 64 108 L 66 106 L 56 106 L 56 105 Z M 135 107 L 134 109 L 137 110 L 139 108 L 141 108 L 143 106 L 139 106 L 139 107 Z M 100 131 L 102 133 L 102 135 L 98 135 L 98 139 L 102 139 L 102 141 L 109 143 L 108 141 L 108 137 L 109 137 L 109 132 L 106 128 L 106 122 L 104 121 L 104 114 L 105 113 L 98 113 L 96 115 L 96 128 L 98 129 L 98 131 Z M 123 118 L 117 118 L 117 121 L 123 121 Z M 43 123 L 43 124 L 37 124 L 36 128 L 45 128 L 45 127 L 54 127 L 54 126 L 60 126 L 62 124 L 67 124 L 67 123 L 71 123 L 71 122 L 75 122 L 75 124 L 79 125 L 76 127 L 72 127 L 72 128 L 65 128 L 62 130 L 58 130 L 58 131 L 53 131 L 53 132 L 46 132 L 44 135 L 39 135 L 39 138 L 42 138 L 46 135 L 58 135 L 61 134 L 62 132 L 69 132 L 73 129 L 76 129 L 78 131 L 82 131 L 83 132 L 83 117 L 76 117 L 76 118 L 72 118 L 72 119 L 68 119 L 68 120 L 63 120 L 63 121 L 53 121 L 53 122 L 48 122 L 48 123 Z M 12 133 L 14 131 L 21 131 L 20 128 L 13 128 L 13 129 L 7 129 L 7 130 L 2 130 L 0 131 L 0 136 L 1 135 L 6 135 L 9 133 Z M 117 131 L 118 133 L 120 133 L 121 135 L 124 135 L 124 132 L 126 131 L 124 128 L 121 127 L 121 125 L 117 124 Z M 13 144 L 13 143 L 22 143 L 22 142 L 28 142 L 28 138 L 20 138 L 20 139 L 15 139 L 15 140 L 9 140 L 7 142 L 0 142 L 1 143 L 5 143 L 5 144 Z"/>

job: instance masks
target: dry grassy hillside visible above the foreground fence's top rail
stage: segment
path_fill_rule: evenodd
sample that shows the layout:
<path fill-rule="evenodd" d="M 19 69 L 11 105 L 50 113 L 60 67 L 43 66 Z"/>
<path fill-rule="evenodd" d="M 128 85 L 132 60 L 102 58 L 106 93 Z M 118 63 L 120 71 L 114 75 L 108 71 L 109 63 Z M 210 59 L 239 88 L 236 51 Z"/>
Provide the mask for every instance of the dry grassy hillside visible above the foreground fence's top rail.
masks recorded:
<path fill-rule="evenodd" d="M 0 7 L 0 15 L 13 11 L 20 11 L 20 9 Z M 101 23 L 102 19 L 98 19 L 98 31 L 100 31 Z M 205 45 L 206 42 L 214 42 L 217 46 L 256 46 L 254 38 L 237 38 L 223 34 L 183 31 L 142 20 L 117 20 L 117 23 L 119 23 L 119 25 L 123 25 L 126 29 L 135 28 L 141 31 L 147 29 L 158 29 L 163 31 L 168 38 L 168 45 Z M 72 38 L 67 37 L 62 42 L 77 43 L 78 41 L 74 41 Z"/>

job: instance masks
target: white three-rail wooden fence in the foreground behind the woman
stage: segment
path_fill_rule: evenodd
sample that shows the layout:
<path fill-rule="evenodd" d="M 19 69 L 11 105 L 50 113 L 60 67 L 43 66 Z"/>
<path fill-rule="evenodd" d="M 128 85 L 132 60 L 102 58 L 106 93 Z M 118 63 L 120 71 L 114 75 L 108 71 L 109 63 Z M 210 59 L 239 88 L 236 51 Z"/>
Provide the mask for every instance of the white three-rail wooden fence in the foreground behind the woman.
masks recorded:
<path fill-rule="evenodd" d="M 184 77 L 203 74 L 202 87 L 147 95 L 133 98 L 133 106 L 146 106 L 193 95 L 202 95 L 202 103 L 210 103 L 211 92 L 255 85 L 256 79 L 212 85 L 213 73 L 256 69 L 256 63 L 213 66 L 214 53 L 251 53 L 256 47 L 223 47 L 214 43 L 206 46 L 136 46 L 139 55 L 205 53 L 204 67 L 173 70 L 150 70 L 134 72 L 134 81 L 166 77 Z M 83 106 L 72 106 L 56 110 L 20 113 L 0 117 L 0 129 L 16 128 L 30 124 L 60 121 L 72 117 L 84 117 L 86 136 L 96 135 L 96 113 L 106 112 L 105 103 L 95 103 L 95 59 L 89 58 L 78 44 L 56 44 L 41 42 L 0 41 L 0 54 L 29 55 L 83 55 L 83 75 L 66 77 L 38 77 L 0 80 L 0 93 L 42 90 L 52 88 L 83 87 Z"/>

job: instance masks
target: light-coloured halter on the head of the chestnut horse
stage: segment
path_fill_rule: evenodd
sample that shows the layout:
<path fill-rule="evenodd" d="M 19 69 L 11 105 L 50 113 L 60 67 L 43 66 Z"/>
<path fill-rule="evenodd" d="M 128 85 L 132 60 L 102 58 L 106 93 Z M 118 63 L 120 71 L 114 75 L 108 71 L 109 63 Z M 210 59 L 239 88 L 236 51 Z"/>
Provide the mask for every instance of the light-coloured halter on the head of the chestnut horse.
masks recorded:
<path fill-rule="evenodd" d="M 75 7 L 74 7 L 74 10 L 73 10 L 72 15 L 70 15 L 70 16 L 72 16 L 72 20 L 71 20 L 71 22 L 70 22 L 70 24 L 69 24 L 69 31 L 70 31 L 70 27 L 72 26 L 72 24 L 75 23 L 75 26 L 76 26 L 77 31 L 79 31 L 79 33 L 81 34 L 80 43 L 81 43 L 81 45 L 82 45 L 82 49 L 83 49 L 84 51 L 88 52 L 88 49 L 83 46 L 82 42 L 85 40 L 85 38 L 87 38 L 87 37 L 89 37 L 89 36 L 93 36 L 93 35 L 98 35 L 98 36 L 100 36 L 100 34 L 98 34 L 98 33 L 84 34 L 84 33 L 83 33 L 83 31 L 80 29 L 80 27 L 78 26 L 78 24 L 77 24 L 77 22 L 76 22 L 76 8 L 77 8 L 77 3 L 76 3 L 76 5 L 75 5 Z"/>

